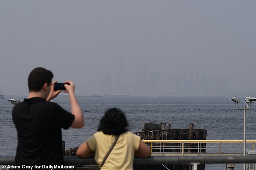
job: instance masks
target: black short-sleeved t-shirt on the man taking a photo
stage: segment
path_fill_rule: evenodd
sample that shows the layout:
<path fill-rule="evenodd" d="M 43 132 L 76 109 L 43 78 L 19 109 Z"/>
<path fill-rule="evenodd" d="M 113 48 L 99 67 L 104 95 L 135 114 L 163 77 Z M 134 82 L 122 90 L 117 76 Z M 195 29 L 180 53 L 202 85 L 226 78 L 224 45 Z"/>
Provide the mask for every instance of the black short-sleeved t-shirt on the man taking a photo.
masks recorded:
<path fill-rule="evenodd" d="M 43 98 L 24 99 L 13 107 L 13 122 L 17 129 L 16 164 L 61 165 L 61 127 L 67 129 L 75 116 L 57 103 Z"/>

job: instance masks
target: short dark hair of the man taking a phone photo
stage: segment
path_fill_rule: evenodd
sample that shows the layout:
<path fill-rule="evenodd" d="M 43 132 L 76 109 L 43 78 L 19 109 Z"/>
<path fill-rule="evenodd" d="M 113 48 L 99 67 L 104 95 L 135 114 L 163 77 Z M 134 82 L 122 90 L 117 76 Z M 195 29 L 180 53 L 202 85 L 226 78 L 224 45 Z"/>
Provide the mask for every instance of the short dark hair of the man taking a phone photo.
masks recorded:
<path fill-rule="evenodd" d="M 34 70 L 30 72 L 28 77 L 29 92 L 40 91 L 45 83 L 50 85 L 50 83 L 52 82 L 52 78 L 53 74 L 50 70 L 46 70 L 42 67 L 34 68 Z"/>

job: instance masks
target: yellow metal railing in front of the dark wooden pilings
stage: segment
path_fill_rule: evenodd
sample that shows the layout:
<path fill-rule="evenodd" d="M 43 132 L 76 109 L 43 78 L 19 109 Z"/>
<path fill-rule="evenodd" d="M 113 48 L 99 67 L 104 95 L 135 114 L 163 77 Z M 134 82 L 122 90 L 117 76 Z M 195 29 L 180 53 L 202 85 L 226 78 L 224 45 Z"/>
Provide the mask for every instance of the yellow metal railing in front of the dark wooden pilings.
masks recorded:
<path fill-rule="evenodd" d="M 208 152 L 208 154 L 227 154 L 227 153 L 243 153 L 243 140 L 142 140 L 149 144 L 152 150 L 159 150 L 160 153 L 165 153 L 172 150 L 178 150 L 182 156 L 184 156 L 185 150 L 196 150 L 195 154 L 203 154 Z M 169 143 L 169 144 L 168 144 Z M 170 143 L 179 143 L 179 145 L 170 145 Z M 193 146 L 191 144 L 197 144 Z M 256 140 L 247 140 L 246 143 L 251 143 L 248 145 L 248 150 L 254 150 L 254 143 Z M 239 145 L 240 144 L 240 145 Z M 207 146 L 206 146 L 207 145 Z M 202 152 L 203 151 L 203 152 Z M 170 153 L 170 152 L 168 152 Z"/>

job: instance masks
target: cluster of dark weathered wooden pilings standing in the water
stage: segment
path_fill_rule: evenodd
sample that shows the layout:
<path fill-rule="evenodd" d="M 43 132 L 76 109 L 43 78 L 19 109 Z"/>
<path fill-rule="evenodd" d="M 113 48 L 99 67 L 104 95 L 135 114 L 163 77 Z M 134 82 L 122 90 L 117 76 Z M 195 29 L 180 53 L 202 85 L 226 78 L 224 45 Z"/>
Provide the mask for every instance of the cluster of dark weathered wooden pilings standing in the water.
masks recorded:
<path fill-rule="evenodd" d="M 135 132 L 134 134 L 141 137 L 141 140 L 206 140 L 207 130 L 206 129 L 194 129 L 194 124 L 189 124 L 189 129 L 171 129 L 171 124 L 166 123 L 142 123 L 142 131 Z M 164 152 L 180 152 L 179 142 L 165 142 L 151 143 L 150 147 L 152 152 L 159 152 L 159 149 L 165 146 Z M 185 142 L 183 143 L 186 147 L 183 152 L 198 152 L 197 147 L 200 147 L 200 152 L 206 152 L 206 143 L 193 143 Z M 161 151 L 161 149 L 160 149 Z"/>

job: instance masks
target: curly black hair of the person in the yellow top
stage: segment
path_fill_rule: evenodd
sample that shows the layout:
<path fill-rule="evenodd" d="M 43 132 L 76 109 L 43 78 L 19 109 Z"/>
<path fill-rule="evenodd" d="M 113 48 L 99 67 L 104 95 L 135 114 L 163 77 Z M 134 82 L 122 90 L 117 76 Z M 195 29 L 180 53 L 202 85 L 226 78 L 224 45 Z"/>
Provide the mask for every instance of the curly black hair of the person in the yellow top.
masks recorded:
<path fill-rule="evenodd" d="M 108 109 L 101 118 L 98 131 L 106 135 L 120 135 L 128 131 L 128 122 L 125 114 L 116 108 Z"/>

